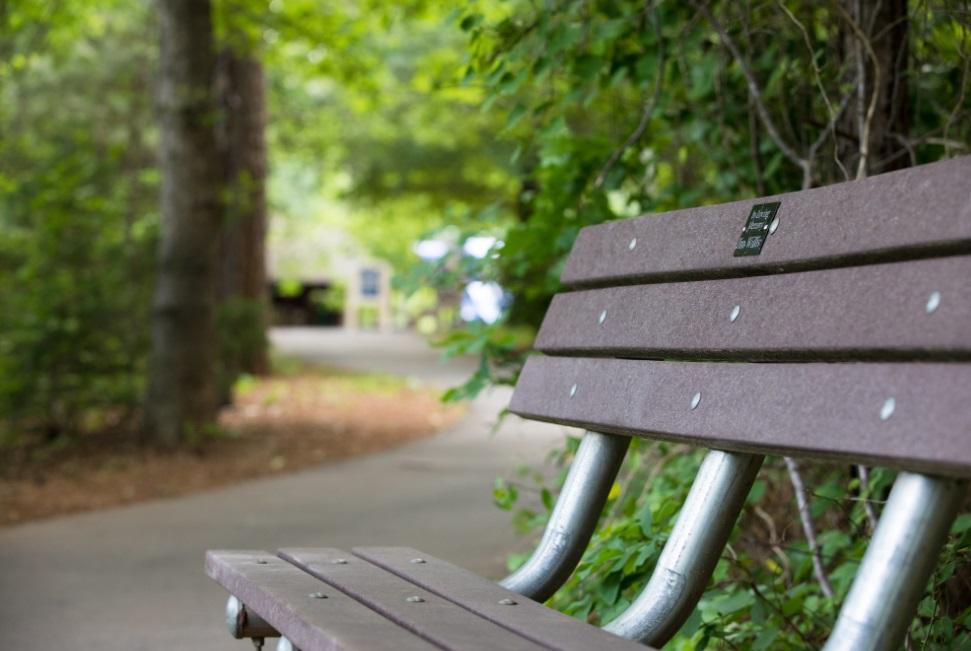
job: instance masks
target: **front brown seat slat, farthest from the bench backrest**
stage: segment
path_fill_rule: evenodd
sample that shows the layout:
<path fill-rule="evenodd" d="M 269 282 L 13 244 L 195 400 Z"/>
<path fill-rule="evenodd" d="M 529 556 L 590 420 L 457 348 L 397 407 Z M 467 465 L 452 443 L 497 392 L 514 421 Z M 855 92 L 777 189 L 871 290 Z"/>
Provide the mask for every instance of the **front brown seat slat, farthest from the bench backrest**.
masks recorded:
<path fill-rule="evenodd" d="M 206 574 L 303 651 L 437 648 L 268 552 L 209 551 Z"/>

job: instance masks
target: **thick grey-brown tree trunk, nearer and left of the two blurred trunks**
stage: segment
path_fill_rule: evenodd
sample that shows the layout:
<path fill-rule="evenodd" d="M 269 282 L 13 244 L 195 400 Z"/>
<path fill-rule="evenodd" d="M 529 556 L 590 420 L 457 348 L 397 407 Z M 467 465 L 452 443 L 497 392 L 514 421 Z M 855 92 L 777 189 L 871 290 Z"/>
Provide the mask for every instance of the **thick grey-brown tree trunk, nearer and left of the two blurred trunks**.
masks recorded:
<path fill-rule="evenodd" d="M 209 0 L 159 0 L 161 236 L 146 433 L 165 444 L 215 422 L 214 261 L 220 225 Z"/>

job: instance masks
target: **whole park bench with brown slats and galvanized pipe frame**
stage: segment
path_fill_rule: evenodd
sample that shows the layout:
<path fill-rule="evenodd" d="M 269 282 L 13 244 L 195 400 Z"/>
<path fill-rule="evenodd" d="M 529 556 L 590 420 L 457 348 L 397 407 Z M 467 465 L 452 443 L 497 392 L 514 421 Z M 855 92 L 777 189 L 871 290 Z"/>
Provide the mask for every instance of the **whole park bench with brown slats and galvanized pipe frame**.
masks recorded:
<path fill-rule="evenodd" d="M 583 229 L 510 410 L 584 428 L 499 583 L 413 549 L 210 551 L 237 636 L 279 648 L 643 649 L 695 608 L 766 454 L 899 470 L 826 648 L 895 649 L 971 476 L 971 157 Z M 708 448 L 640 596 L 541 604 L 629 437 Z"/>

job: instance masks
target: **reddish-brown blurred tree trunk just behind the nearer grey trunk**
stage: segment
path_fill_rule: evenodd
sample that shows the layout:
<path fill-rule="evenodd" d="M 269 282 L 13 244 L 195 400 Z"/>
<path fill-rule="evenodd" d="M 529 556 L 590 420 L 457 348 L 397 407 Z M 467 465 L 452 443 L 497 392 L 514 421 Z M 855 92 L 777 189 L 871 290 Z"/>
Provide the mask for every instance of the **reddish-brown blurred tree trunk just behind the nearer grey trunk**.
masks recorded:
<path fill-rule="evenodd" d="M 222 149 L 227 207 L 220 237 L 218 296 L 227 321 L 245 341 L 227 342 L 223 368 L 229 381 L 240 372 L 269 368 L 266 346 L 266 85 L 254 56 L 231 49 L 219 56 Z M 237 345 L 231 345 L 231 344 Z"/>

